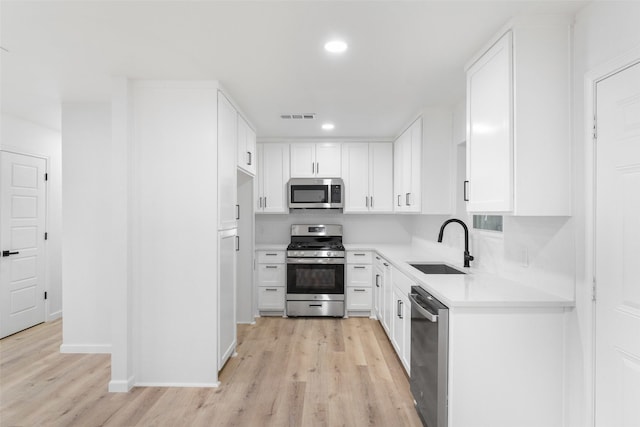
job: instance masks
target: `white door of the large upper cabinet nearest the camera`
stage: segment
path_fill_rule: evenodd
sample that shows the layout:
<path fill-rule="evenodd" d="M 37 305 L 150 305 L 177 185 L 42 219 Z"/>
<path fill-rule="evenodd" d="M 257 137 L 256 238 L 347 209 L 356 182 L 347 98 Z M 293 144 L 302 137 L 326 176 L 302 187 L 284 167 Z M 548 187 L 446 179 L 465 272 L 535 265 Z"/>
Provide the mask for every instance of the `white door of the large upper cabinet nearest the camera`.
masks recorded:
<path fill-rule="evenodd" d="M 513 209 L 511 32 L 467 71 L 467 209 Z"/>

